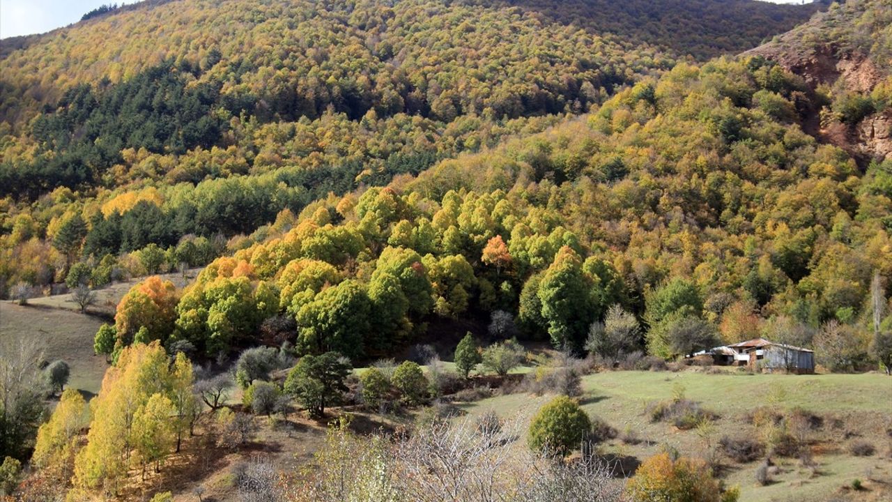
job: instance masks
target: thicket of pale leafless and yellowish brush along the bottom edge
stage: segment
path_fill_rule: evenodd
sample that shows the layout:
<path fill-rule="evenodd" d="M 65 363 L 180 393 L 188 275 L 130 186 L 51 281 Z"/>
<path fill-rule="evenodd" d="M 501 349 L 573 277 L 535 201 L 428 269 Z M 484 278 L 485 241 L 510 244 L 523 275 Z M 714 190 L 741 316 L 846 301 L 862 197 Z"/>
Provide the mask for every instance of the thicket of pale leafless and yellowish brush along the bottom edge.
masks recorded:
<path fill-rule="evenodd" d="M 496 417 L 498 418 L 498 417 Z M 362 437 L 330 431 L 296 501 L 615 502 L 623 484 L 593 456 L 573 461 L 517 448 L 516 422 L 479 427 L 434 421 L 411 435 Z"/>

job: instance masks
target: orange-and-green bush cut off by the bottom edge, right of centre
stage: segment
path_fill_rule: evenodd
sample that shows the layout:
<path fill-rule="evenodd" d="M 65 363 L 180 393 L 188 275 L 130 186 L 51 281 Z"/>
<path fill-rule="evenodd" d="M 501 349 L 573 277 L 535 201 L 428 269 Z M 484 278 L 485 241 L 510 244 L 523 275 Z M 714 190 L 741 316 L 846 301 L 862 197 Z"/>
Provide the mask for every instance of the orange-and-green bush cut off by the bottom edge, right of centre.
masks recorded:
<path fill-rule="evenodd" d="M 668 453 L 645 460 L 626 490 L 632 502 L 719 502 L 733 500 L 735 493 L 729 491 L 728 498 L 720 498 L 722 491 L 719 481 L 715 480 L 705 462 L 685 456 L 673 459 Z"/>

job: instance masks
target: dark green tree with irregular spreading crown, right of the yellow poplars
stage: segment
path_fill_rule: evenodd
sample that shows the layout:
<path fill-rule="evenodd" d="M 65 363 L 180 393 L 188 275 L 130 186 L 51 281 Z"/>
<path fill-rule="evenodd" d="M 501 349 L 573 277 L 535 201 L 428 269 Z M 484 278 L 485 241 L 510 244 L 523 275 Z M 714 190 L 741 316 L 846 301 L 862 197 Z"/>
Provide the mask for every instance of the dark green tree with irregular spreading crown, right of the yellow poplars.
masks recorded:
<path fill-rule="evenodd" d="M 326 406 L 337 402 L 347 391 L 344 379 L 350 372 L 350 363 L 336 352 L 303 356 L 288 372 L 285 392 L 296 397 L 311 416 L 321 417 Z"/>

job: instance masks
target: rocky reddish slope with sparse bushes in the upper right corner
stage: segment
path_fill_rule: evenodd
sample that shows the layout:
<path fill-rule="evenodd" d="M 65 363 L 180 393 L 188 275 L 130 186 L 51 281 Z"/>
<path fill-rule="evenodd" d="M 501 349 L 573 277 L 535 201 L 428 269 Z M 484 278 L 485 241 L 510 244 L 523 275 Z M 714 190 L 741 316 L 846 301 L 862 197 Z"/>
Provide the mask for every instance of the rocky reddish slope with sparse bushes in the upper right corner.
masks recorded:
<path fill-rule="evenodd" d="M 801 75 L 832 101 L 812 132 L 863 163 L 892 155 L 892 5 L 835 5 L 747 54 L 759 54 Z"/>

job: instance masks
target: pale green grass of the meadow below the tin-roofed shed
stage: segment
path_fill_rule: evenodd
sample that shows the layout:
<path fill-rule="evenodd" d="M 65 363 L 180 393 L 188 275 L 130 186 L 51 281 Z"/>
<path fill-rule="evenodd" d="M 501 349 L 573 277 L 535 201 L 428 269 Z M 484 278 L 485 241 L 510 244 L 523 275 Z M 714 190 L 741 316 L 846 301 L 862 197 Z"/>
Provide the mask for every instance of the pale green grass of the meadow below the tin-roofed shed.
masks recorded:
<path fill-rule="evenodd" d="M 747 412 L 758 406 L 779 406 L 780 409 L 801 406 L 843 420 L 843 430 L 830 431 L 827 425 L 820 432 L 824 444 L 814 456 L 819 464 L 816 476 L 802 467 L 797 459 L 775 458 L 783 472 L 775 477 L 774 483 L 761 487 L 755 481 L 758 462 L 740 465 L 724 459 L 723 480 L 730 486 L 740 487 L 740 500 L 826 500 L 838 497 L 838 490 L 855 478 L 868 479 L 869 473 L 886 484 L 865 481 L 869 490 L 863 493 L 888 495 L 892 486 L 892 459 L 888 457 L 892 444 L 885 427 L 892 410 L 892 378 L 879 373 L 744 376 L 685 371 L 591 374 L 582 379 L 584 395 L 580 402 L 583 409 L 621 433 L 633 431 L 640 439 L 645 439 L 639 445 L 612 439 L 599 445 L 601 453 L 644 460 L 670 446 L 684 455 L 702 456 L 705 442 L 696 431 L 680 431 L 670 423 L 651 423 L 644 414 L 649 402 L 672 397 L 673 388 L 678 384 L 683 386 L 685 397 L 719 414 L 720 418 L 714 423 L 714 442 L 723 435 L 758 435 L 759 431 L 745 420 Z M 525 429 L 525 424 L 549 398 L 519 393 L 460 407 L 472 418 L 493 409 L 505 419 L 523 423 Z M 857 439 L 875 441 L 877 455 L 850 456 L 847 452 L 850 439 L 845 439 L 845 430 L 859 434 Z M 525 438 L 517 441 L 518 448 L 525 444 Z M 879 499 L 883 499 L 882 496 Z"/>

